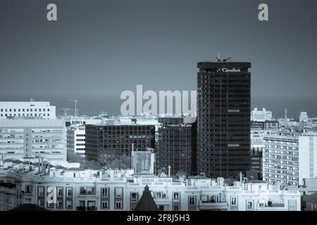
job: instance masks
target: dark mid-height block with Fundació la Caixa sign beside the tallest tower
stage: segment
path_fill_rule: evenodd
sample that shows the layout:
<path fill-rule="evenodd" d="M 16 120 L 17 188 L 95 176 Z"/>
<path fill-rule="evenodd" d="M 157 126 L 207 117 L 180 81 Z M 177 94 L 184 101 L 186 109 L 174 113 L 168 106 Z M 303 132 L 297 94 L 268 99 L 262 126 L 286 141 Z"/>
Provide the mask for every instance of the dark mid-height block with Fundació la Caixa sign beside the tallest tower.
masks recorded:
<path fill-rule="evenodd" d="M 158 169 L 175 175 L 197 172 L 197 123 L 196 117 L 161 117 L 159 122 Z"/>

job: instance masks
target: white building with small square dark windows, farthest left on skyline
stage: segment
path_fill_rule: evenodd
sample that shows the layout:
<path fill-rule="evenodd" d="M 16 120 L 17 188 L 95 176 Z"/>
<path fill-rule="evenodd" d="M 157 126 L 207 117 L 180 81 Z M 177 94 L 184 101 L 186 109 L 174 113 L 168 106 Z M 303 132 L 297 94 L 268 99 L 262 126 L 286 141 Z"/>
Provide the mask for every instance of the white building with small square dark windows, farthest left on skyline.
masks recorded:
<path fill-rule="evenodd" d="M 1 101 L 0 119 L 8 117 L 42 117 L 56 119 L 56 108 L 46 101 Z"/>

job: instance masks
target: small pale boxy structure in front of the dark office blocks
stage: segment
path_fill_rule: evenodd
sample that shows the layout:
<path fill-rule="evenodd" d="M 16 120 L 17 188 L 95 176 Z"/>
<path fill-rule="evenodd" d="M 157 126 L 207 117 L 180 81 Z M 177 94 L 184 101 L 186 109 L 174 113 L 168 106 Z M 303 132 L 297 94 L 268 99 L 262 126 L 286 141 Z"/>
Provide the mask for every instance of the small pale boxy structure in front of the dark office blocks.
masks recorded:
<path fill-rule="evenodd" d="M 135 174 L 155 174 L 156 172 L 156 154 L 154 149 L 148 148 L 147 151 L 132 150 L 131 168 Z"/>

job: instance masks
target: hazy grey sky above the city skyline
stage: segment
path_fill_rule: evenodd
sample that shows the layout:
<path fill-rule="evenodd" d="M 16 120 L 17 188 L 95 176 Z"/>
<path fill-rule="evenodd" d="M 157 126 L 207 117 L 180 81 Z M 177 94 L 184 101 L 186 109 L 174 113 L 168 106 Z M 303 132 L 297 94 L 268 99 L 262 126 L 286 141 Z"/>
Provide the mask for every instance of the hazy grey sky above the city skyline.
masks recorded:
<path fill-rule="evenodd" d="M 82 111 L 119 113 L 120 93 L 137 84 L 196 89 L 197 61 L 220 53 L 252 63 L 253 106 L 317 116 L 316 18 L 316 0 L 1 0 L 0 100 L 77 98 Z"/>

